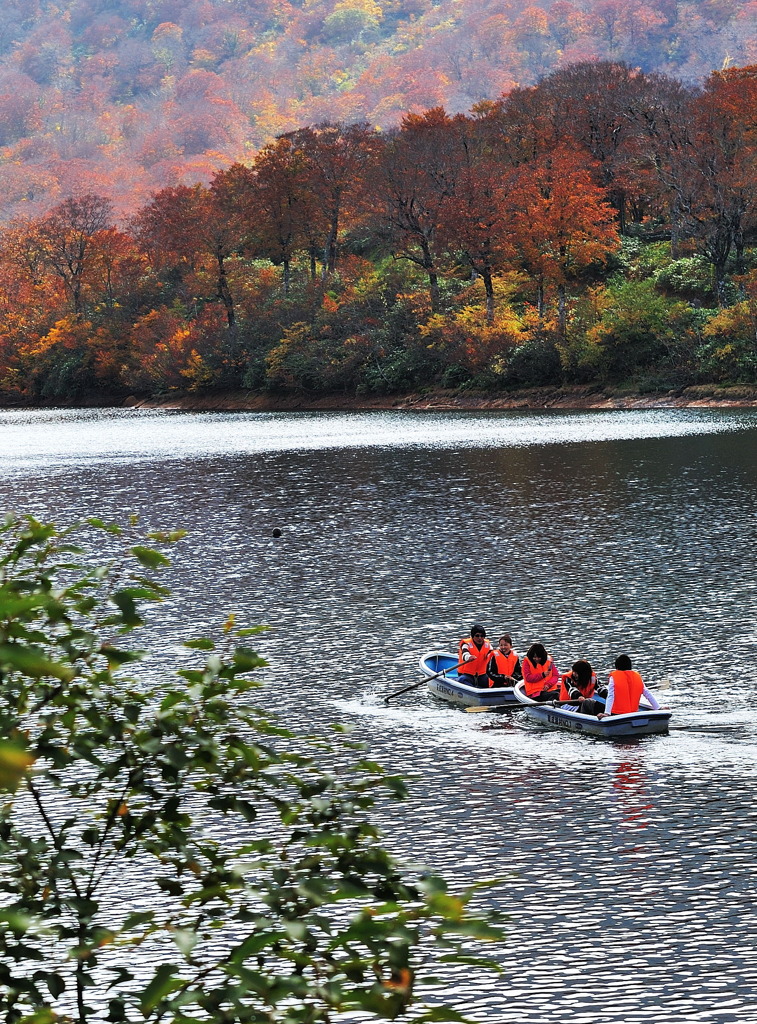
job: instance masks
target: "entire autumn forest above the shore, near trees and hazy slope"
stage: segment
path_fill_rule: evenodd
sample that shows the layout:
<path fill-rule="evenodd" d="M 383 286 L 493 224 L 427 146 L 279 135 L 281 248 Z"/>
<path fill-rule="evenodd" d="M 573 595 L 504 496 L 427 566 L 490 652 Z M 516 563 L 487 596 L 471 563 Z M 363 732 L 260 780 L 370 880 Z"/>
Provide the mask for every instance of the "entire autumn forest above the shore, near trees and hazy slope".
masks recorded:
<path fill-rule="evenodd" d="M 371 102 L 369 69 L 401 30 L 428 30 L 437 7 L 5 5 L 18 11 L 0 86 L 7 398 L 757 381 L 754 5 L 650 4 L 634 30 L 646 70 L 617 58 L 631 47 L 627 19 L 616 19 L 613 45 L 600 32 L 609 3 L 559 0 L 545 20 L 541 8 L 491 5 L 489 62 L 461 66 L 468 91 L 448 74 L 448 33 L 433 74 L 406 67 L 403 88 Z M 97 10 L 85 31 L 76 15 L 87 6 Z M 220 33 L 221 6 L 237 49 Z M 682 37 L 663 46 L 692 7 L 688 49 Z M 146 8 L 163 20 L 148 25 Z M 227 89 L 244 79 L 253 8 L 267 26 L 254 37 L 269 42 L 267 120 L 251 113 L 259 81 L 235 101 Z M 34 35 L 43 15 L 55 30 L 44 45 Z M 305 97 L 302 50 L 288 86 L 299 106 L 276 73 L 293 25 L 310 57 L 352 61 L 341 89 L 321 69 L 332 85 Z M 151 48 L 129 77 L 119 60 L 141 52 L 137 28 Z M 71 50 L 75 30 L 102 37 L 89 39 L 89 57 Z M 708 40 L 714 57 L 713 40 L 726 37 L 744 66 L 728 58 L 698 81 L 690 41 Z M 475 38 L 483 46 L 480 27 Z M 112 55 L 97 74 L 95 50 Z M 444 88 L 429 92 L 440 70 Z M 172 113 L 151 120 L 151 104 L 166 115 L 166 90 Z"/>

